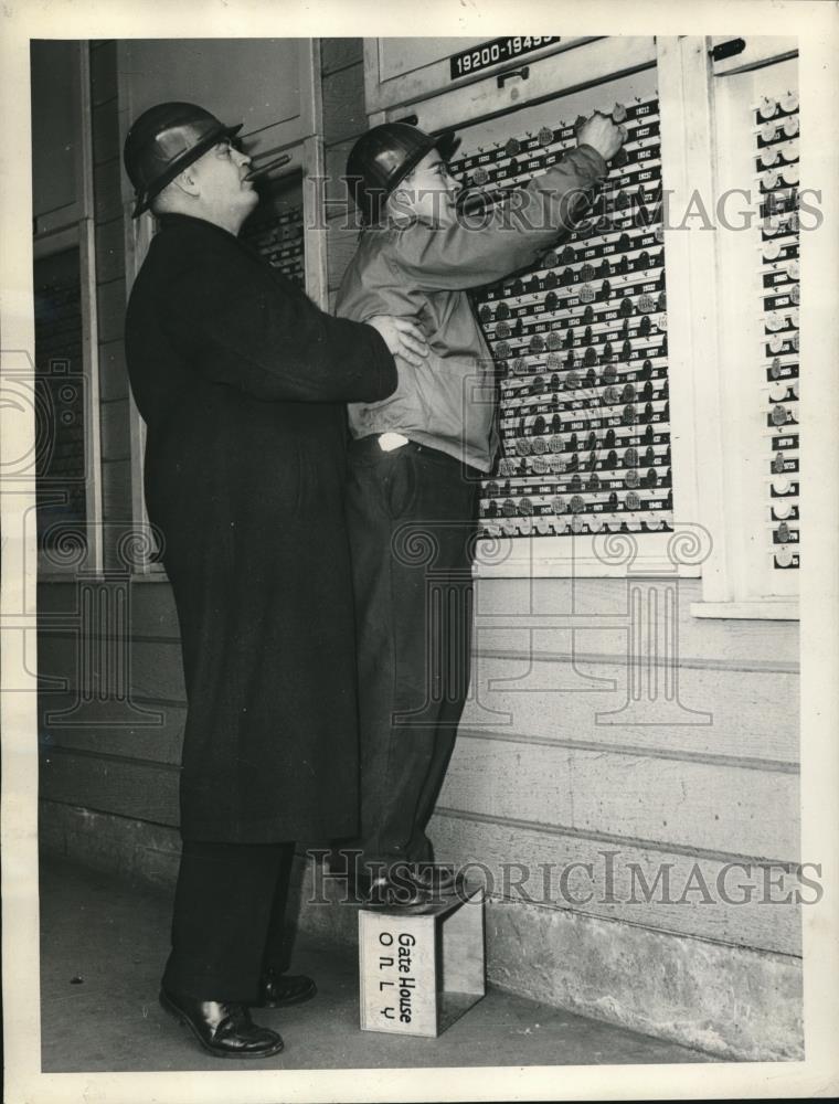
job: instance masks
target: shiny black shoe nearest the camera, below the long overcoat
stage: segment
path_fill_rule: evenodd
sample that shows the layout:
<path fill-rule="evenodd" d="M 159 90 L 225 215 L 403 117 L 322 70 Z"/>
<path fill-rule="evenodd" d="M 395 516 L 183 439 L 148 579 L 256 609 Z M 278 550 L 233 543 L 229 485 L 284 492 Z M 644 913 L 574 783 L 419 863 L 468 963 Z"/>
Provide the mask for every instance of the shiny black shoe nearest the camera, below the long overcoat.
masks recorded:
<path fill-rule="evenodd" d="M 245 1005 L 226 1000 L 201 1000 L 160 990 L 160 1004 L 215 1058 L 270 1058 L 283 1050 L 283 1039 L 251 1019 Z"/>

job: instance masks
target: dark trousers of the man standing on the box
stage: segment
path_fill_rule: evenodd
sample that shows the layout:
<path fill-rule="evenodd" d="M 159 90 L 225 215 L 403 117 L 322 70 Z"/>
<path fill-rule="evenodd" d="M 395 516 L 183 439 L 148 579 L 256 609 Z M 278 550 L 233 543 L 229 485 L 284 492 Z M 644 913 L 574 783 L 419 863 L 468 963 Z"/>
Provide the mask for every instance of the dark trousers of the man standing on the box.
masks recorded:
<path fill-rule="evenodd" d="M 469 689 L 480 471 L 410 442 L 349 445 L 362 862 L 433 861 L 425 829 Z"/>

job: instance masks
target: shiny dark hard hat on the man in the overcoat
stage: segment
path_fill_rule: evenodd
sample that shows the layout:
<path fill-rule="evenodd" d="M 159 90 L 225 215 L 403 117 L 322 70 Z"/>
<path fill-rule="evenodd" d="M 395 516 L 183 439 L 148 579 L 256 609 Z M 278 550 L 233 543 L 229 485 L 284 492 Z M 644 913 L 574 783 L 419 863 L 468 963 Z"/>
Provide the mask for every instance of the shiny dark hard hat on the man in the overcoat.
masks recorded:
<path fill-rule="evenodd" d="M 225 127 L 195 104 L 158 104 L 135 120 L 123 150 L 134 184 L 134 217 L 148 209 L 159 191 L 222 138 L 238 134 L 243 124 Z"/>

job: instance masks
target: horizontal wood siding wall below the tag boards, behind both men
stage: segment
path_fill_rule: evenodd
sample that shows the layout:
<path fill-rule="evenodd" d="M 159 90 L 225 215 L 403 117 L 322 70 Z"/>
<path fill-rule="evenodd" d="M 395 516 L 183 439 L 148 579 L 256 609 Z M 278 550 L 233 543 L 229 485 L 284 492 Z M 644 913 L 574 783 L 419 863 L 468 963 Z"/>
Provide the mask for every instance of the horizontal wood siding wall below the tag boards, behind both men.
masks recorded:
<path fill-rule="evenodd" d="M 86 586 L 55 583 L 40 591 L 42 678 L 67 680 L 66 690 L 42 698 L 42 797 L 176 826 L 185 699 L 170 590 L 160 582 L 130 585 L 130 634 L 120 659 L 115 654 L 124 641 L 67 627 L 74 618 L 82 625 Z M 545 862 L 557 869 L 571 861 L 602 863 L 606 850 L 619 851 L 624 863 L 638 863 L 649 883 L 656 864 L 669 863 L 677 895 L 694 863 L 709 885 L 729 862 L 795 863 L 795 628 L 686 618 L 680 696 L 688 708 L 710 710 L 711 723 L 660 725 L 656 703 L 649 705 L 648 724 L 598 723 L 597 714 L 627 701 L 625 654 L 582 645 L 578 637 L 594 630 L 574 630 L 573 647 L 570 630 L 557 630 L 531 650 L 522 640 L 530 630 L 481 628 L 489 611 L 512 615 L 518 608 L 524 615 L 525 586 L 500 580 L 478 584 L 472 692 L 433 824 L 439 858 L 485 864 L 500 894 L 503 863 L 532 870 Z M 580 582 L 575 598 L 602 608 L 619 587 Z M 697 587 L 686 583 L 684 599 Z M 121 590 L 97 586 L 97 618 L 109 618 Z M 556 602 L 570 587 L 546 580 L 540 591 L 545 602 Z M 130 680 L 120 701 L 116 679 L 123 660 Z M 93 671 L 92 680 L 86 671 Z M 47 712 L 74 705 L 64 720 L 49 723 Z M 800 954 L 797 911 L 756 901 L 713 909 L 695 895 L 687 906 L 594 901 L 583 911 Z"/>

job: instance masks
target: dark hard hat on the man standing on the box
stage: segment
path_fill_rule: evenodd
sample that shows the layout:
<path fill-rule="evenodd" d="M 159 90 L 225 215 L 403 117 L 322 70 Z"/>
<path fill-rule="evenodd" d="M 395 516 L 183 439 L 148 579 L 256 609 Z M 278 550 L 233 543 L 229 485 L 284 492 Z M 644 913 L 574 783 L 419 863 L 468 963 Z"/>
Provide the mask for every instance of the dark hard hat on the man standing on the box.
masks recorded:
<path fill-rule="evenodd" d="M 452 131 L 428 135 L 410 123 L 383 123 L 355 142 L 347 158 L 347 176 L 355 206 L 364 222 L 375 222 L 385 199 L 433 149 L 448 160 L 460 139 Z"/>

